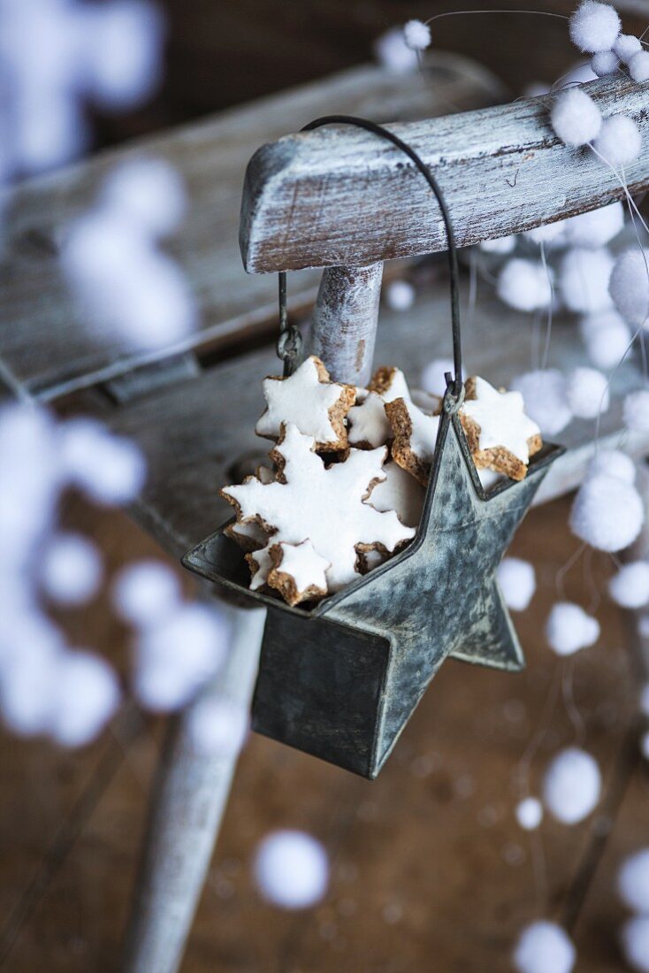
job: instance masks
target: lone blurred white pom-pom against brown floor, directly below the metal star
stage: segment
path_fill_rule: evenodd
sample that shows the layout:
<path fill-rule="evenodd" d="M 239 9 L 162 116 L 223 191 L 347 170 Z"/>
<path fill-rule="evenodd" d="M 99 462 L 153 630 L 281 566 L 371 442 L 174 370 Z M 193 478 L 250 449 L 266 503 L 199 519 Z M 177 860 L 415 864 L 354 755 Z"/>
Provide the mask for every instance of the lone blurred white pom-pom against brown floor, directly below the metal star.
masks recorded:
<path fill-rule="evenodd" d="M 257 848 L 254 870 L 264 898 L 283 909 L 306 909 L 327 891 L 325 849 L 302 831 L 276 831 L 265 838 Z"/>

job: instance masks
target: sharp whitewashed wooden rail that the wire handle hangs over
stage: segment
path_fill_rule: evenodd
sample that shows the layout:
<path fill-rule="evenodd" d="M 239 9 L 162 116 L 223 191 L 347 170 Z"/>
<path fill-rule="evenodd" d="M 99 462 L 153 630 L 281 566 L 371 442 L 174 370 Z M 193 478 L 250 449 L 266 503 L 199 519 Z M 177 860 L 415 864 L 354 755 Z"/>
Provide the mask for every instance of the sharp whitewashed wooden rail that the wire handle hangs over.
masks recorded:
<path fill-rule="evenodd" d="M 649 85 L 628 78 L 585 87 L 604 116 L 630 115 L 643 133 L 626 169 L 631 192 L 649 186 Z M 551 97 L 390 126 L 436 173 L 457 244 L 520 233 L 624 196 L 589 150 L 559 141 Z M 389 142 L 327 126 L 263 146 L 246 171 L 241 252 L 246 270 L 362 266 L 446 249 L 430 189 Z"/>

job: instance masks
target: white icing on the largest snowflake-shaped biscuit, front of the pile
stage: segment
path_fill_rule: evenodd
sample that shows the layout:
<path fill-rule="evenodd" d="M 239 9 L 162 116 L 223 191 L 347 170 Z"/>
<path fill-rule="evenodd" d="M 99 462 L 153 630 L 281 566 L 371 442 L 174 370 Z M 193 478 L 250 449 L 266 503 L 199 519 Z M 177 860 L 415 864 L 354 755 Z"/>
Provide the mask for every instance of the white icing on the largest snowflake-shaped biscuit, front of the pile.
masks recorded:
<path fill-rule="evenodd" d="M 358 578 L 357 544 L 381 544 L 392 552 L 415 531 L 394 511 L 379 513 L 364 502 L 385 477 L 387 450 L 349 450 L 344 462 L 325 467 L 314 449 L 314 438 L 288 423 L 273 450 L 278 462 L 283 461 L 285 482 L 249 480 L 227 486 L 222 493 L 238 508 L 241 520 L 258 517 L 273 532 L 273 543 L 300 544 L 308 537 L 320 557 L 331 563 L 327 582 L 329 591 L 335 592 Z M 252 556 L 257 563 L 258 554 Z"/>

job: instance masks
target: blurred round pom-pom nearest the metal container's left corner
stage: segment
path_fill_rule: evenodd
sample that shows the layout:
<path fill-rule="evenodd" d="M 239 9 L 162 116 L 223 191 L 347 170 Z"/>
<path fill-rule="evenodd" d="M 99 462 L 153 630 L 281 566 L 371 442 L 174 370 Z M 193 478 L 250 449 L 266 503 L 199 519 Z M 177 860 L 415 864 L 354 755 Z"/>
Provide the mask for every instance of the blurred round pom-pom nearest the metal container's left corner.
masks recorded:
<path fill-rule="evenodd" d="M 160 560 L 141 560 L 122 568 L 113 585 L 113 604 L 129 625 L 145 629 L 180 604 L 180 581 Z"/>

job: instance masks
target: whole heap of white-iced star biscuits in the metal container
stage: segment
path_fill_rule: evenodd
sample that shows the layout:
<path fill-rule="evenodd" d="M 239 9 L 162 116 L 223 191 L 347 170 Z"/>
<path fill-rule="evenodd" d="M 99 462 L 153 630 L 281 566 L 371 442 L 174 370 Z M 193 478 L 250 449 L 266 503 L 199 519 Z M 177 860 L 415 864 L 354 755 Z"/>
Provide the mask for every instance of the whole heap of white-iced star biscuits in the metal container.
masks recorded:
<path fill-rule="evenodd" d="M 341 591 L 415 537 L 440 425 L 441 400 L 411 391 L 397 368 L 367 388 L 332 381 L 311 355 L 289 378 L 265 378 L 259 436 L 269 465 L 223 497 L 226 532 L 246 552 L 250 588 L 288 604 Z M 522 480 L 541 449 L 518 392 L 469 378 L 459 413 L 480 479 Z"/>

